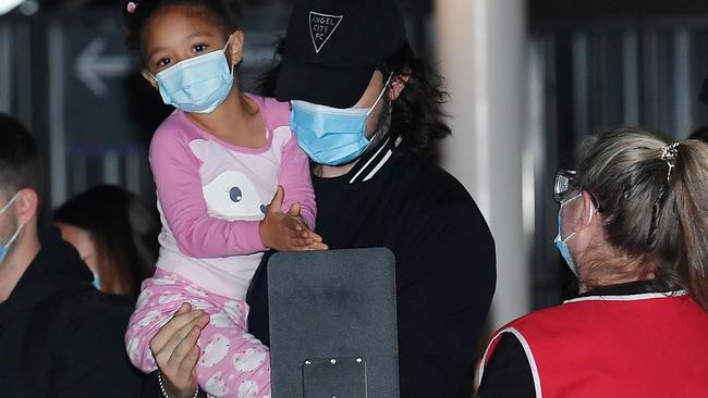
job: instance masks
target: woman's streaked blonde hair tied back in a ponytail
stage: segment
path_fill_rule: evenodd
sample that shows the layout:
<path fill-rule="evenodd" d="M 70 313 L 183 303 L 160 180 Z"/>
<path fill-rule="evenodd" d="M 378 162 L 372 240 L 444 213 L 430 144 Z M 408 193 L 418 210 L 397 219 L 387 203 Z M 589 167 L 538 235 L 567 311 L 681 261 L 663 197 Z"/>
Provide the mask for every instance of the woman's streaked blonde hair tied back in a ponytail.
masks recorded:
<path fill-rule="evenodd" d="M 626 269 L 687 288 L 708 311 L 708 145 L 605 130 L 584 141 L 577 175 L 603 209 L 606 240 L 632 262 Z"/>

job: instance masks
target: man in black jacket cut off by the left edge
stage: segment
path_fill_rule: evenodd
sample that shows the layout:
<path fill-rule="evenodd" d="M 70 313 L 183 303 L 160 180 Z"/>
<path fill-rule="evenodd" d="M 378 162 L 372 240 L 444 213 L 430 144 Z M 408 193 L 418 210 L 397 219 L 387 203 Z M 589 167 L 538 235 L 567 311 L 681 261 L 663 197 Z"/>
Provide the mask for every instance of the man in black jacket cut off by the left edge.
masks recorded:
<path fill-rule="evenodd" d="M 37 232 L 37 144 L 0 114 L 0 385 L 3 397 L 135 397 L 131 304 L 96 290 L 71 245 Z"/>

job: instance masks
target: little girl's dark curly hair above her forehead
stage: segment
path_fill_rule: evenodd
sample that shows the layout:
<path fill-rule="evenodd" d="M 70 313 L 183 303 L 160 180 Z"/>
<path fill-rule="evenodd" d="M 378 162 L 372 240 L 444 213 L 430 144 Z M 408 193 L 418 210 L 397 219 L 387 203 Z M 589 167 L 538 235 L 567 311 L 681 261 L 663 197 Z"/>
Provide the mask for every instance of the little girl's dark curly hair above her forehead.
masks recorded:
<path fill-rule="evenodd" d="M 136 3 L 133 12 L 129 11 L 127 2 L 123 4 L 123 24 L 126 29 L 125 42 L 131 50 L 137 53 L 143 63 L 145 63 L 143 52 L 145 28 L 150 18 L 160 11 L 171 7 L 185 7 L 205 12 L 215 24 L 223 29 L 224 36 L 239 29 L 239 22 L 243 15 L 241 3 L 237 0 L 143 0 L 136 1 Z"/>

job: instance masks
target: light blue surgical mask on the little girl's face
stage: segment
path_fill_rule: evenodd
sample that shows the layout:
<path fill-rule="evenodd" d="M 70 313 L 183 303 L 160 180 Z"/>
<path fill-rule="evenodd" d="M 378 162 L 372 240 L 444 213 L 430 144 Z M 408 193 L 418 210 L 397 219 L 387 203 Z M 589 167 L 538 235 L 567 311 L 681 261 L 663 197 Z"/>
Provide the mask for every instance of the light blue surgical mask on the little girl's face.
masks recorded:
<path fill-rule="evenodd" d="M 233 69 L 225 54 L 228 47 L 229 41 L 223 51 L 190 58 L 154 76 L 162 101 L 184 112 L 213 112 L 233 86 Z"/>

